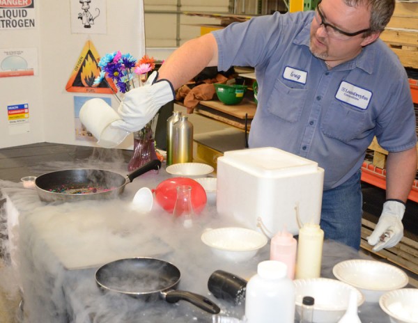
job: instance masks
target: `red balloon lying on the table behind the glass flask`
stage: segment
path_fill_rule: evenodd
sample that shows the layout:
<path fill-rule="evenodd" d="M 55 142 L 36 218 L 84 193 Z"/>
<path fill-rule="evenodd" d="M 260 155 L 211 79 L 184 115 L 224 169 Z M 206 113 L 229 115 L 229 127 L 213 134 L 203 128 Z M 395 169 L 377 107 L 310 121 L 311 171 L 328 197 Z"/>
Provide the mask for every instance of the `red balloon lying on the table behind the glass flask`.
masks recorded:
<path fill-rule="evenodd" d="M 169 178 L 160 182 L 153 190 L 157 203 L 167 212 L 173 213 L 177 199 L 177 187 L 180 185 L 192 187 L 193 210 L 196 214 L 202 212 L 206 205 L 206 191 L 199 182 L 192 180 L 192 178 Z"/>

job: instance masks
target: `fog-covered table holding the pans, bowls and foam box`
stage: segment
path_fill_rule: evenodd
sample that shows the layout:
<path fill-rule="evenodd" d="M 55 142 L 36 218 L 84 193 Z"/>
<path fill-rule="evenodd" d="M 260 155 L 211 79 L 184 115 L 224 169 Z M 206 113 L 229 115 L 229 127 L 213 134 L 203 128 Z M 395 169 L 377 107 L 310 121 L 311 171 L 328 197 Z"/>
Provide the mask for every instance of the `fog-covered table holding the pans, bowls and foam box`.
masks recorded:
<path fill-rule="evenodd" d="M 113 164 L 109 169 L 125 174 Z M 182 274 L 179 289 L 212 299 L 222 308 L 221 315 L 244 315 L 245 304 L 232 306 L 208 292 L 208 278 L 222 269 L 249 279 L 258 262 L 268 259 L 269 244 L 251 261 L 227 262 L 200 240 L 207 228 L 239 225 L 219 216 L 214 203 L 195 216 L 189 229 L 156 203 L 149 214 L 131 209 L 139 188 L 155 189 L 167 178 L 164 168 L 158 174 L 150 171 L 127 184 L 121 198 L 61 204 L 41 202 L 35 190 L 0 180 L 1 194 L 6 196 L 3 212 L 8 216 L 12 260 L 24 294 L 25 322 L 212 322 L 212 315 L 185 301 L 150 303 L 102 292 L 94 278 L 98 267 L 134 256 L 172 262 Z M 360 258 L 357 251 L 325 241 L 321 276 L 334 278 L 332 267 L 353 258 Z M 359 310 L 362 322 L 389 322 L 378 304 L 364 304 Z"/>

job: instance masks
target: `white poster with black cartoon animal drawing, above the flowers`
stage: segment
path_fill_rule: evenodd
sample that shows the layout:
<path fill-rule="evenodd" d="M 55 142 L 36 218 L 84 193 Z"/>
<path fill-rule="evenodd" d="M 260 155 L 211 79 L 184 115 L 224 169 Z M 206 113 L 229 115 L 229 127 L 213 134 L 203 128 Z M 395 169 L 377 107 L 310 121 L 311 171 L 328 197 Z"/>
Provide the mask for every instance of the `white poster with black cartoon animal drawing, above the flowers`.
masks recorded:
<path fill-rule="evenodd" d="M 72 33 L 107 33 L 106 0 L 70 0 Z"/>

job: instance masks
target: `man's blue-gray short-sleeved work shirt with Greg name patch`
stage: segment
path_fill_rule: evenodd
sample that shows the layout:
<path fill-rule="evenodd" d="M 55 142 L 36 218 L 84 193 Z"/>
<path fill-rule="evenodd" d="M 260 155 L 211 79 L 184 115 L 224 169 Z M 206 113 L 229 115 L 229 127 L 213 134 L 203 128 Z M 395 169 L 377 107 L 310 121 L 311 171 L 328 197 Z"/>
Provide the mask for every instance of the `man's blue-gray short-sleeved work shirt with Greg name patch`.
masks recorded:
<path fill-rule="evenodd" d="M 313 11 L 274 13 L 213 35 L 219 70 L 256 70 L 250 148 L 277 147 L 317 161 L 326 190 L 359 170 L 373 136 L 389 152 L 414 147 L 416 118 L 405 68 L 382 40 L 327 70 L 309 51 L 313 18 Z"/>

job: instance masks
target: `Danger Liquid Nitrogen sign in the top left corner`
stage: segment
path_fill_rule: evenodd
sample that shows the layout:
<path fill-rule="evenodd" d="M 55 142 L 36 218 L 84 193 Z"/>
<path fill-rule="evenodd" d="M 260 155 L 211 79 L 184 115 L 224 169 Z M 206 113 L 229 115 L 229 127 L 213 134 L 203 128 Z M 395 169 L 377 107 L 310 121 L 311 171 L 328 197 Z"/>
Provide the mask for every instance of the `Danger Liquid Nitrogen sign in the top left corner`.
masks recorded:
<path fill-rule="evenodd" d="M 0 0 L 0 29 L 35 27 L 35 0 Z"/>

